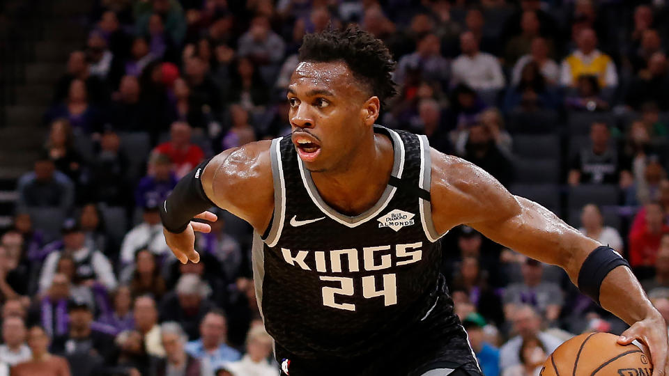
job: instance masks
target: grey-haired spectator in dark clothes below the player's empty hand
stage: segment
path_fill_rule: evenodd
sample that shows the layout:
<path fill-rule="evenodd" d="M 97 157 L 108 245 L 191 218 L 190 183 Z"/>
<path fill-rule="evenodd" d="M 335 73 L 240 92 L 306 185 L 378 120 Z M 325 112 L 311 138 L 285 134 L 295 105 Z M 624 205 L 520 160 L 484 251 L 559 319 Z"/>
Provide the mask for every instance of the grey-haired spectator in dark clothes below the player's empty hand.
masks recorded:
<path fill-rule="evenodd" d="M 199 276 L 184 274 L 176 283 L 174 292 L 167 293 L 162 299 L 161 321 L 178 322 L 190 340 L 196 339 L 202 318 L 213 308 L 213 303 L 207 299 L 210 292 Z"/>

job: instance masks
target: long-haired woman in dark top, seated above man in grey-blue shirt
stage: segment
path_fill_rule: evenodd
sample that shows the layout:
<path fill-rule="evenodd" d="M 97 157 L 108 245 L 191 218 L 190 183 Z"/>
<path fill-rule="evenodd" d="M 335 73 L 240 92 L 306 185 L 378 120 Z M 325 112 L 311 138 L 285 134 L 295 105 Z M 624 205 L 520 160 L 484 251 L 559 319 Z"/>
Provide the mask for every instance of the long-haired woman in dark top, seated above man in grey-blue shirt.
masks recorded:
<path fill-rule="evenodd" d="M 54 161 L 56 170 L 68 175 L 73 182 L 78 182 L 83 161 L 73 145 L 74 141 L 70 122 L 64 118 L 56 119 L 51 123 L 45 150 Z"/>

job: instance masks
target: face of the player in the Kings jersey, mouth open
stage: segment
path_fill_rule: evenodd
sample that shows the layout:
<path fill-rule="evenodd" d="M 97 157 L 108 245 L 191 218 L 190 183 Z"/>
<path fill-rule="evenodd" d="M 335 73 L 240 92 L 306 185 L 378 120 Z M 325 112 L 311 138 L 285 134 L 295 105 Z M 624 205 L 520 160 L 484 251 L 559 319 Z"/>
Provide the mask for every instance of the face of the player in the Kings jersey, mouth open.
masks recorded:
<path fill-rule="evenodd" d="M 378 116 L 378 98 L 366 93 L 342 61 L 303 61 L 288 90 L 293 144 L 307 169 L 348 169 L 361 135 Z"/>

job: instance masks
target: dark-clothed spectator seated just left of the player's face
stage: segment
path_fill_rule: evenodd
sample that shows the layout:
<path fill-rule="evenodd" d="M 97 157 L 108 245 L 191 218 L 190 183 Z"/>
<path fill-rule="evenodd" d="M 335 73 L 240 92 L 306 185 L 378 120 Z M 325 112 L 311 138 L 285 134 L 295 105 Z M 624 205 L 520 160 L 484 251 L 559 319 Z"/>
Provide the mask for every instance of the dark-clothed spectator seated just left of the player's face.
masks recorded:
<path fill-rule="evenodd" d="M 269 86 L 263 80 L 256 65 L 249 58 L 237 58 L 230 65 L 230 91 L 227 103 L 239 103 L 247 111 L 269 102 Z"/>

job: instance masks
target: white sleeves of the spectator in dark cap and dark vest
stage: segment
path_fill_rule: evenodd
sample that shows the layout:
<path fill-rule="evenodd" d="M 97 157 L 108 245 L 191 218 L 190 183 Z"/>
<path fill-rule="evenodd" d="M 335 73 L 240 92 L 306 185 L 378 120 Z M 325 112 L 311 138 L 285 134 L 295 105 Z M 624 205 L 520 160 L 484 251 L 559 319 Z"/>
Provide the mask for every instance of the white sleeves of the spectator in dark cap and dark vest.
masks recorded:
<path fill-rule="evenodd" d="M 48 290 L 51 286 L 51 281 L 56 274 L 56 267 L 58 267 L 58 260 L 61 258 L 61 252 L 52 252 L 47 256 L 47 260 L 42 267 L 42 274 L 40 274 L 40 292 Z M 89 256 L 91 257 L 91 268 L 95 274 L 95 280 L 105 285 L 107 290 L 114 290 L 116 288 L 116 276 L 114 276 L 112 263 L 109 263 L 107 256 L 100 251 L 91 251 L 86 247 L 72 253 L 75 263 L 80 263 Z"/>

